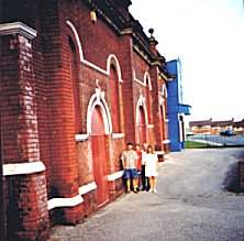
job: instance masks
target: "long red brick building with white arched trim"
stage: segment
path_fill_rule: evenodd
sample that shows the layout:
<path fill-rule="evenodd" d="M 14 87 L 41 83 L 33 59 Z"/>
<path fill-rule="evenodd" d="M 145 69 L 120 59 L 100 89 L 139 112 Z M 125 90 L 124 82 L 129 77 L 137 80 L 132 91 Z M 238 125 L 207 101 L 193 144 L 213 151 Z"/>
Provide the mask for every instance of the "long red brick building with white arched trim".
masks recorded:
<path fill-rule="evenodd" d="M 45 240 L 123 191 L 126 142 L 164 151 L 157 42 L 130 0 L 2 0 L 0 91 L 5 229 Z M 167 149 L 167 146 L 165 147 Z"/>

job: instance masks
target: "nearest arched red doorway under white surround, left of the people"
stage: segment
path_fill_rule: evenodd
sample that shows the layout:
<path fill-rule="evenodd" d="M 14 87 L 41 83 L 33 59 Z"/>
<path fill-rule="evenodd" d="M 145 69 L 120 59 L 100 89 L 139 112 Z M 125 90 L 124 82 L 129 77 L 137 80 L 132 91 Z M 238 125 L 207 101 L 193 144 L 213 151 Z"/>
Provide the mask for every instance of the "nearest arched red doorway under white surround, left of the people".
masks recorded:
<path fill-rule="evenodd" d="M 109 201 L 107 143 L 108 136 L 106 134 L 102 111 L 99 106 L 96 106 L 91 114 L 91 145 L 98 206 Z"/>

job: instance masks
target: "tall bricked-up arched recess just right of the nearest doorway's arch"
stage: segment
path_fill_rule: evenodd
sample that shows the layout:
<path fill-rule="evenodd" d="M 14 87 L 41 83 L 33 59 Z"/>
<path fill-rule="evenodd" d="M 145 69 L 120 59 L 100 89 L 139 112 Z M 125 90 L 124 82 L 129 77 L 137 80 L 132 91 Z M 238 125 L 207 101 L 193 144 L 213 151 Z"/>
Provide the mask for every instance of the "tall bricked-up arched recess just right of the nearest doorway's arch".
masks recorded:
<path fill-rule="evenodd" d="M 114 65 L 110 66 L 110 100 L 113 132 L 121 132 L 120 128 L 120 90 L 119 77 Z"/>

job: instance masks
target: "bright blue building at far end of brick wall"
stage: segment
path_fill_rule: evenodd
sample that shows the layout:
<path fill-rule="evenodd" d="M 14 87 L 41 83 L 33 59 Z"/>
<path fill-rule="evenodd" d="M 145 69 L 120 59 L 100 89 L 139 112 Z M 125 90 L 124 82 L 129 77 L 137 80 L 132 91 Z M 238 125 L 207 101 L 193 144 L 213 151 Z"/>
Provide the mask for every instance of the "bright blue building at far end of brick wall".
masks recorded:
<path fill-rule="evenodd" d="M 190 106 L 182 102 L 181 64 L 179 59 L 167 62 L 167 70 L 174 76 L 167 81 L 167 118 L 169 149 L 179 152 L 184 149 L 185 122 L 184 116 L 190 114 Z"/>

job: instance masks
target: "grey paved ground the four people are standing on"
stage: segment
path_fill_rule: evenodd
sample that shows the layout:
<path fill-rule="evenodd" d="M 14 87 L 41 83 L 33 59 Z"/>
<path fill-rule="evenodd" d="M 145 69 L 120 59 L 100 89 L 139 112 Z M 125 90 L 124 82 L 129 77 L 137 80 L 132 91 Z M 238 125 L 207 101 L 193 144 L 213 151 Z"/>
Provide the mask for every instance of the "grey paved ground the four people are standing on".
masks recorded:
<path fill-rule="evenodd" d="M 170 154 L 160 167 L 157 194 L 124 195 L 85 223 L 54 228 L 52 239 L 244 241 L 244 196 L 223 188 L 241 158 L 243 149 Z"/>

